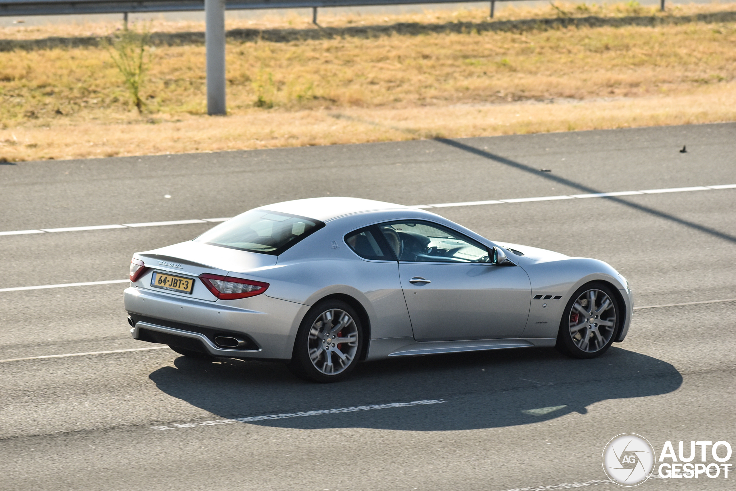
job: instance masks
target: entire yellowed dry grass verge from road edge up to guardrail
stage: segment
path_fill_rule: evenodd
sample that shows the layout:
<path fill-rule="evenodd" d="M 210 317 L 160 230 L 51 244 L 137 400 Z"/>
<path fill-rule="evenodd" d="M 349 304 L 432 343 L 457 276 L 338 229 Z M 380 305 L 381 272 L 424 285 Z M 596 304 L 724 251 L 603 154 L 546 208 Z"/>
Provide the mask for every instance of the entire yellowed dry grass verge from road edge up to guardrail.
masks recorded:
<path fill-rule="evenodd" d="M 595 8 L 605 10 L 595 15 L 630 15 L 631 9 L 644 9 Z M 681 13 L 712 12 L 736 10 L 736 5 L 678 8 Z M 501 12 L 509 18 L 529 18 L 549 16 L 548 9 L 553 10 L 545 7 L 522 15 L 507 7 Z M 447 21 L 437 12 L 433 15 L 438 17 L 426 21 Z M 480 16 L 478 10 L 454 17 L 473 21 L 482 20 Z M 414 17 L 383 22 L 417 21 Z M 266 19 L 258 27 L 278 26 L 277 20 Z M 356 22 L 347 15 L 325 15 L 321 23 L 333 21 Z M 365 18 L 360 22 L 379 23 Z M 171 28 L 160 24 L 153 30 Z M 40 37 L 57 29 L 55 35 L 63 35 L 60 26 L 32 29 L 37 28 L 28 28 L 26 34 Z M 0 30 L 0 36 L 4 34 Z M 229 42 L 227 118 L 204 115 L 202 46 L 155 50 L 143 90 L 148 104 L 143 118 L 132 112 L 121 77 L 104 49 L 4 52 L 0 159 L 733 121 L 735 47 L 733 23 Z"/>

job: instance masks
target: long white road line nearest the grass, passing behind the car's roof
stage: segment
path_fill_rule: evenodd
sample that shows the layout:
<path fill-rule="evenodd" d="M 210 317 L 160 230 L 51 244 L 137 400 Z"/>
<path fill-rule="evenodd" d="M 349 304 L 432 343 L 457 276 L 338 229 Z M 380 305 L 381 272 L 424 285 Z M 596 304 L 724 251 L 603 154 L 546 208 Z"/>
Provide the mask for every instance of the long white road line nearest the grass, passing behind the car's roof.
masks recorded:
<path fill-rule="evenodd" d="M 685 191 L 710 191 L 714 189 L 735 189 L 736 184 L 715 184 L 713 186 L 694 186 L 694 187 L 670 187 L 667 189 L 649 189 L 641 191 L 613 191 L 611 193 L 589 193 L 589 194 L 571 194 L 565 196 L 537 196 L 534 198 L 509 198 L 509 199 L 489 199 L 485 201 L 462 201 L 460 203 L 436 203 L 436 204 L 415 204 L 410 208 L 447 208 L 447 207 L 472 207 L 479 204 L 503 204 L 503 203 L 526 203 L 528 201 L 554 201 L 559 199 L 576 199 L 576 198 L 605 198 L 606 196 L 630 196 L 634 194 L 658 194 L 658 193 L 682 193 Z M 126 227 L 144 227 L 144 226 L 167 226 L 167 225 L 185 225 L 187 223 L 216 223 L 230 220 L 230 218 L 199 218 L 192 220 L 173 220 L 161 222 L 146 223 L 123 223 L 122 225 L 94 225 L 94 226 L 78 226 L 64 227 L 61 229 L 38 229 L 38 230 L 10 230 L 0 232 L 0 235 L 22 235 L 22 234 L 43 234 L 46 232 L 77 232 L 80 230 L 101 230 L 101 229 L 124 229 Z"/>

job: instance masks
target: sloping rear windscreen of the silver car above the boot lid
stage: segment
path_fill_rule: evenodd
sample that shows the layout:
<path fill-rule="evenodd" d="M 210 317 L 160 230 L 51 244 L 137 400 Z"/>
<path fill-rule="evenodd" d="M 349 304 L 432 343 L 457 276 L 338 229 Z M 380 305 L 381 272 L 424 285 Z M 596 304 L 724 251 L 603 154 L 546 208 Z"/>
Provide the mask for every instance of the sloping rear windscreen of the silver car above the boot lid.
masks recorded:
<path fill-rule="evenodd" d="M 194 242 L 277 255 L 323 226 L 311 218 L 253 209 L 220 223 Z"/>

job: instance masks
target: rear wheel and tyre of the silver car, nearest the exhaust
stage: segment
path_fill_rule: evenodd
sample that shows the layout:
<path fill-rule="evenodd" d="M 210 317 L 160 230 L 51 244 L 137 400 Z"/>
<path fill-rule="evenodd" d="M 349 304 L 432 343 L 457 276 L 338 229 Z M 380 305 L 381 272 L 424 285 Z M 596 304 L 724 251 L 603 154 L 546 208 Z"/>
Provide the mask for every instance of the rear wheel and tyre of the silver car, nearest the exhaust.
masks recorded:
<path fill-rule="evenodd" d="M 339 343 L 342 338 L 357 341 Z M 355 309 L 339 300 L 322 301 L 302 319 L 286 366 L 300 379 L 321 384 L 340 381 L 358 365 L 363 343 L 363 326 Z"/>

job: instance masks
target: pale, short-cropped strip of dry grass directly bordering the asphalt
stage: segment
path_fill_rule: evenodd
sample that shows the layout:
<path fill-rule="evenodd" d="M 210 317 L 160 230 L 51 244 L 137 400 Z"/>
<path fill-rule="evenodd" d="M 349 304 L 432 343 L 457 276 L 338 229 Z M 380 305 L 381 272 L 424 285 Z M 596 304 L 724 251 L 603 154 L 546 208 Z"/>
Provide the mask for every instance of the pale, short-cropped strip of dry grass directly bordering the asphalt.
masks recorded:
<path fill-rule="evenodd" d="M 0 130 L 8 160 L 177 154 L 736 121 L 736 83 L 690 95 L 406 109 L 262 111 L 176 122 Z"/>

